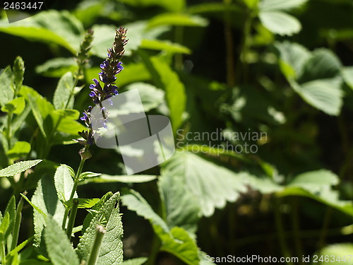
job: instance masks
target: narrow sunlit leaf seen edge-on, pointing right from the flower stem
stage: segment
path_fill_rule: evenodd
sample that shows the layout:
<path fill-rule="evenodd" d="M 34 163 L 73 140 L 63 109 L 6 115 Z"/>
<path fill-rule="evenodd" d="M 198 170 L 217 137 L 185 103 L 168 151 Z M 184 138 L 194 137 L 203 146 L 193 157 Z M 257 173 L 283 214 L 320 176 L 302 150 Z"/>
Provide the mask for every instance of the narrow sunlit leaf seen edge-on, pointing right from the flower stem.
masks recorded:
<path fill-rule="evenodd" d="M 106 175 L 102 174 L 99 177 L 93 177 L 83 180 L 83 184 L 87 183 L 145 183 L 157 179 L 155 175 Z"/>

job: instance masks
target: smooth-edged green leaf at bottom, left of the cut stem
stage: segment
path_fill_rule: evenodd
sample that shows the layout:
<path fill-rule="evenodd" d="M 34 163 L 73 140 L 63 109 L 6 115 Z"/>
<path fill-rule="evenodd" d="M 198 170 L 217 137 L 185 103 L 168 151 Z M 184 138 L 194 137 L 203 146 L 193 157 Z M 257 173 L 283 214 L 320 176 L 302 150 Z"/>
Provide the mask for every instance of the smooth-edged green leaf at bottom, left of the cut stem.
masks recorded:
<path fill-rule="evenodd" d="M 68 240 L 66 232 L 61 230 L 61 227 L 56 220 L 48 216 L 46 226 L 44 228 L 45 245 L 50 261 L 54 265 L 79 265 L 76 252 Z"/>

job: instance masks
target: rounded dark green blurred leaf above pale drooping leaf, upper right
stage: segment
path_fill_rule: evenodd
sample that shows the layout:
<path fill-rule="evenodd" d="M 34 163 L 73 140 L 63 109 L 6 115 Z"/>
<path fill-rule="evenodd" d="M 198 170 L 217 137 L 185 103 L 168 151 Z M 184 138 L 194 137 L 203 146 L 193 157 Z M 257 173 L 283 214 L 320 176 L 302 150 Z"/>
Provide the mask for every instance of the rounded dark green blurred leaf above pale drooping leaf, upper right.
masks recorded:
<path fill-rule="evenodd" d="M 299 83 L 317 79 L 335 78 L 340 74 L 341 62 L 329 49 L 316 49 L 306 59 Z"/>

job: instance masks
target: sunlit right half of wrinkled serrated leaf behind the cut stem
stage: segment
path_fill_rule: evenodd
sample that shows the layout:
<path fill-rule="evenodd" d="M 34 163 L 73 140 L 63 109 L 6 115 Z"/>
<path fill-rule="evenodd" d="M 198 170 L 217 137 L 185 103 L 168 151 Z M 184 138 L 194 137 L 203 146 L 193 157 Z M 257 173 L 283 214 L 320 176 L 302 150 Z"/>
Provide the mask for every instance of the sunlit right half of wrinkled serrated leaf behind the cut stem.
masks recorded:
<path fill-rule="evenodd" d="M 123 224 L 119 213 L 119 203 L 112 209 L 112 214 L 107 223 L 97 265 L 118 265 L 123 262 Z"/>

